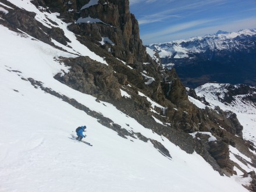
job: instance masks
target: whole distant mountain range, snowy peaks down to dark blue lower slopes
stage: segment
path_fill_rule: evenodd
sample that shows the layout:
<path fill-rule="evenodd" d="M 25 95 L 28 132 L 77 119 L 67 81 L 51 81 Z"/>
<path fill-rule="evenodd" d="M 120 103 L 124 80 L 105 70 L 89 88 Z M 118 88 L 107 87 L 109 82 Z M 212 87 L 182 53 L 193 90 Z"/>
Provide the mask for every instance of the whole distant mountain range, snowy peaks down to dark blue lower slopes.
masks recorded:
<path fill-rule="evenodd" d="M 218 31 L 148 47 L 158 52 L 163 66 L 175 67 L 187 87 L 208 82 L 256 85 L 256 29 Z"/>

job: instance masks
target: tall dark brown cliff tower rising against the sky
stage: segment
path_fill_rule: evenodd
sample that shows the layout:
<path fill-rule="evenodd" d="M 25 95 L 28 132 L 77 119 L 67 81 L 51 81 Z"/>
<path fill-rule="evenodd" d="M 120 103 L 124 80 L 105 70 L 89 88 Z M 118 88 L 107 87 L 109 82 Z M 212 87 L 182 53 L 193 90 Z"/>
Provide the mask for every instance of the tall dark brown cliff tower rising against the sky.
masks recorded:
<path fill-rule="evenodd" d="M 45 1 L 45 4 L 52 11 L 61 12 L 63 19 L 72 22 L 69 30 L 75 34 L 83 35 L 88 41 L 94 41 L 98 45 L 101 45 L 99 42 L 102 38 L 111 40 L 115 45 L 106 44 L 102 47 L 109 50 L 113 56 L 127 63 L 150 61 L 140 40 L 138 22 L 130 13 L 128 0 L 100 0 L 95 5 L 84 8 L 88 2 Z M 85 22 L 85 18 L 90 21 Z"/>

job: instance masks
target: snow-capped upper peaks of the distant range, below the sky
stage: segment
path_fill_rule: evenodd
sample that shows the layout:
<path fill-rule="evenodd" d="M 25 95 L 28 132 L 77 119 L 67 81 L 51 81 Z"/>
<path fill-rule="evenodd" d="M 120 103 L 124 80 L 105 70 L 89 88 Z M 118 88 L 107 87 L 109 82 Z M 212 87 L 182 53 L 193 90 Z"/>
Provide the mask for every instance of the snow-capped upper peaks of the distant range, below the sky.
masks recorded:
<path fill-rule="evenodd" d="M 238 32 L 227 33 L 225 31 L 218 31 L 214 35 L 205 35 L 204 37 L 192 37 L 187 40 L 176 40 L 165 42 L 161 44 L 151 44 L 149 48 L 156 49 L 161 56 L 172 58 L 189 58 L 190 54 L 206 52 L 208 50 L 239 50 L 241 47 L 250 48 L 254 46 L 251 44 L 241 44 L 239 40 L 246 38 L 255 38 L 256 29 L 244 29 Z"/>

